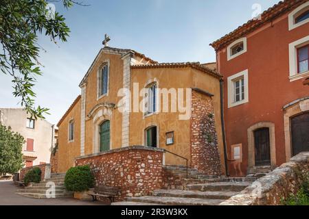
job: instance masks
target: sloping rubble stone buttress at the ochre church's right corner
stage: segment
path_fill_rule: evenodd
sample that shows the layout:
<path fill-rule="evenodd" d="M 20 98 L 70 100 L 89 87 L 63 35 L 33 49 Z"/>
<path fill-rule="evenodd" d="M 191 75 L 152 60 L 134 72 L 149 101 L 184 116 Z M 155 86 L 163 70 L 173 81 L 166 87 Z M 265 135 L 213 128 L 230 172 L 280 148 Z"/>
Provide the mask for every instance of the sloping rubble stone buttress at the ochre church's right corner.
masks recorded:
<path fill-rule="evenodd" d="M 192 168 L 205 175 L 220 176 L 218 137 L 211 96 L 192 91 L 191 117 Z"/>

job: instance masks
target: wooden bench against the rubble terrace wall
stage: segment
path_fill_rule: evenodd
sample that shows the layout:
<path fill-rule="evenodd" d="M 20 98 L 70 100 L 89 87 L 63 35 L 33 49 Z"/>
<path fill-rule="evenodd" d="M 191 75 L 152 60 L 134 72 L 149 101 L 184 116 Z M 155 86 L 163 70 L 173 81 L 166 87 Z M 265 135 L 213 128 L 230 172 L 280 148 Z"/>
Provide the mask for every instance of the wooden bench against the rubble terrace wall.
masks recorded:
<path fill-rule="evenodd" d="M 105 197 L 108 198 L 111 203 L 114 202 L 115 196 L 118 196 L 120 193 L 119 187 L 109 187 L 105 185 L 95 186 L 93 192 L 89 192 L 88 194 L 92 196 L 93 201 L 97 200 L 97 197 Z"/>

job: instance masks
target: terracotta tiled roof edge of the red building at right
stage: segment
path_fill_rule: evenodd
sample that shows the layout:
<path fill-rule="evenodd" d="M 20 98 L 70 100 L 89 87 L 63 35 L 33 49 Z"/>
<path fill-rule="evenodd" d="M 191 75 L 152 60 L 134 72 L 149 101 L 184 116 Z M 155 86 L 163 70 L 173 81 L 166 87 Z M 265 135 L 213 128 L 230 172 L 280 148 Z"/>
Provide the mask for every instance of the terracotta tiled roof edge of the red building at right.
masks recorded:
<path fill-rule="evenodd" d="M 269 21 L 273 21 L 274 18 L 277 18 L 278 16 L 281 16 L 282 14 L 291 11 L 295 8 L 297 8 L 301 3 L 304 3 L 308 0 L 285 0 L 285 1 L 279 1 L 279 3 L 273 5 L 273 7 L 268 8 L 268 10 L 264 11 L 262 13 L 262 19 L 261 20 L 249 20 L 247 23 L 244 23 L 244 25 L 241 25 L 237 29 L 231 31 L 231 33 L 223 36 L 222 38 L 212 42 L 210 45 L 211 47 L 214 47 L 216 51 L 220 49 L 221 47 L 226 46 L 229 44 L 229 42 L 232 42 L 233 40 L 237 40 L 238 38 L 241 38 L 245 34 L 248 34 L 255 29 L 258 29 L 264 23 L 267 23 Z"/>

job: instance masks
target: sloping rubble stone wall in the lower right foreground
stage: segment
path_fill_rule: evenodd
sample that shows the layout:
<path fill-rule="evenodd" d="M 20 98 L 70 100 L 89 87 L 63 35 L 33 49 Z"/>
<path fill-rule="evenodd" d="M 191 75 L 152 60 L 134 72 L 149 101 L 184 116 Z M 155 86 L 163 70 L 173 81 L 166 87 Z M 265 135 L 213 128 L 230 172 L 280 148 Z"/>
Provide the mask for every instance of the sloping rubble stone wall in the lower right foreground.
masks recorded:
<path fill-rule="evenodd" d="M 280 205 L 282 198 L 297 193 L 308 173 L 309 152 L 299 153 L 220 205 Z"/>

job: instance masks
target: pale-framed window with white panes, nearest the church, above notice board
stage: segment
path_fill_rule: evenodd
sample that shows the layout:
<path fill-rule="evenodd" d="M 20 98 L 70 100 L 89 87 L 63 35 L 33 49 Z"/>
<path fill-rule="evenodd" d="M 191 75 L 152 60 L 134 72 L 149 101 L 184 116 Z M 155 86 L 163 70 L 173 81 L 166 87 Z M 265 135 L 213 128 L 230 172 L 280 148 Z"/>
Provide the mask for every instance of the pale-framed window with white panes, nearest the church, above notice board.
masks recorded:
<path fill-rule="evenodd" d="M 249 102 L 248 70 L 227 78 L 228 107 Z"/>

